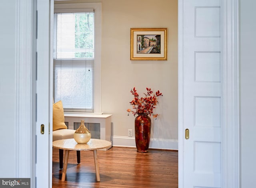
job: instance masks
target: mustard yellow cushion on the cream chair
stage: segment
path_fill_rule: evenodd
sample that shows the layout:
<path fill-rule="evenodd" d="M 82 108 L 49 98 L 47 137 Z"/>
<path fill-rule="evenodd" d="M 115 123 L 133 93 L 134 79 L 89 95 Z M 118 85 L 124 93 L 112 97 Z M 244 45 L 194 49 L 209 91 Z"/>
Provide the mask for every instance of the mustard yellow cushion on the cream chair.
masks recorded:
<path fill-rule="evenodd" d="M 61 100 L 52 106 L 52 130 L 58 129 L 67 129 L 64 122 L 64 109 Z"/>

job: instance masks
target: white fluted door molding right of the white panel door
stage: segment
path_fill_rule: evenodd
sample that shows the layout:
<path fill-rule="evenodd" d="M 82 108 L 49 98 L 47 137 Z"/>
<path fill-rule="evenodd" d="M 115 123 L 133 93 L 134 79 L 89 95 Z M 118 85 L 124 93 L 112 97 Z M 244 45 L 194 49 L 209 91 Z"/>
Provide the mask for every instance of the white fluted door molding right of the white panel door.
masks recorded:
<path fill-rule="evenodd" d="M 222 188 L 240 186 L 238 0 L 221 1 Z"/>

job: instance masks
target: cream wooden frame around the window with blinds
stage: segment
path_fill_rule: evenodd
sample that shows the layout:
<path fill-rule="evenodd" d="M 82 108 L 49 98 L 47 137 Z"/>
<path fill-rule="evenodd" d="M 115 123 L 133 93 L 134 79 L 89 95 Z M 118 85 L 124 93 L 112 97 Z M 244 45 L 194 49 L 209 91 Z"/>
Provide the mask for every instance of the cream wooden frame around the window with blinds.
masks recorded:
<path fill-rule="evenodd" d="M 79 112 L 86 114 L 102 114 L 101 111 L 101 61 L 102 61 L 102 3 L 62 3 L 54 4 L 54 13 L 80 12 L 81 10 L 94 9 L 95 23 L 95 52 L 94 52 L 94 112 Z M 65 109 L 64 109 L 65 112 Z M 70 113 L 70 112 L 69 112 Z M 74 112 L 78 113 L 78 112 Z"/>

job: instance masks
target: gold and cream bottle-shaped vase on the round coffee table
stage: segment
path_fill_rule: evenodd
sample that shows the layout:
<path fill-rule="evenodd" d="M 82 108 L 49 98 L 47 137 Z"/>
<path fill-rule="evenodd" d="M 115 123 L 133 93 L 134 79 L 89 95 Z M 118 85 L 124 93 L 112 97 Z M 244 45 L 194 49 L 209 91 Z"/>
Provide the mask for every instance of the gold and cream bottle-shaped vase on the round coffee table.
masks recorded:
<path fill-rule="evenodd" d="M 91 139 L 91 133 L 84 125 L 84 120 L 81 120 L 80 127 L 74 133 L 74 139 L 78 144 L 86 144 Z"/>

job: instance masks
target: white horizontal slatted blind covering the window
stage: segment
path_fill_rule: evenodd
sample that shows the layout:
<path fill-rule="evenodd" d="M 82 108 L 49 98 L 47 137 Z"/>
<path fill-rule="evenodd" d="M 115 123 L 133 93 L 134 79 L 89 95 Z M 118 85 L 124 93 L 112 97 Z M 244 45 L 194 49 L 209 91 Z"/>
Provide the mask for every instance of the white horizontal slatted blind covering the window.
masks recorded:
<path fill-rule="evenodd" d="M 54 100 L 94 112 L 94 12 L 54 13 Z"/>

